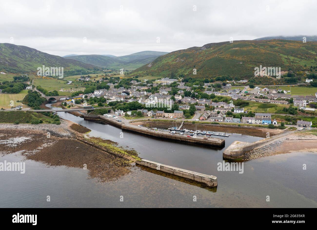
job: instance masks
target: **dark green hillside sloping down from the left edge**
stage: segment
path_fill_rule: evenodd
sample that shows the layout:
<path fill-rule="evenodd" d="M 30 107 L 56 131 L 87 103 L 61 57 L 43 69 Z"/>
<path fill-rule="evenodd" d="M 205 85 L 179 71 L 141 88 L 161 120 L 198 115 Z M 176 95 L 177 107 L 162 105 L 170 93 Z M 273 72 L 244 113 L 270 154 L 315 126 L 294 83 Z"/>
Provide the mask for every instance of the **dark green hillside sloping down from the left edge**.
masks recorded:
<path fill-rule="evenodd" d="M 96 66 L 50 55 L 27 46 L 0 43 L 0 70 L 10 73 L 36 73 L 38 67 L 64 67 L 68 71 L 94 69 Z"/>

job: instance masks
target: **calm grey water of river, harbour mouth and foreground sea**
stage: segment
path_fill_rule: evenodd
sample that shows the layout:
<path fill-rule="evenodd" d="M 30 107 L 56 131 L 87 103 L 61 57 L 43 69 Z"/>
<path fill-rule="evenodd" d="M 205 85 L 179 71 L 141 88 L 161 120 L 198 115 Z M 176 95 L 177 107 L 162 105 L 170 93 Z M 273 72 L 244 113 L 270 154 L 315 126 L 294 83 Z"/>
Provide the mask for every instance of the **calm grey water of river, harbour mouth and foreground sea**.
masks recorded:
<path fill-rule="evenodd" d="M 27 160 L 23 176 L 19 172 L 0 172 L 0 207 L 317 207 L 316 153 L 245 161 L 243 174 L 217 171 L 223 150 L 234 140 L 252 142 L 262 138 L 232 134 L 225 138 L 224 148 L 213 149 L 154 139 L 69 113 L 59 115 L 91 129 L 91 136 L 135 149 L 141 158 L 217 176 L 218 187 L 184 183 L 139 167 L 132 167 L 130 174 L 116 181 L 100 183 L 87 179 L 85 170 L 48 167 Z M 15 153 L 0 158 L 0 162 L 4 160 L 16 162 L 23 158 Z M 307 170 L 303 170 L 303 164 Z M 48 195 L 50 202 L 46 201 Z M 193 201 L 194 196 L 197 201 Z"/>

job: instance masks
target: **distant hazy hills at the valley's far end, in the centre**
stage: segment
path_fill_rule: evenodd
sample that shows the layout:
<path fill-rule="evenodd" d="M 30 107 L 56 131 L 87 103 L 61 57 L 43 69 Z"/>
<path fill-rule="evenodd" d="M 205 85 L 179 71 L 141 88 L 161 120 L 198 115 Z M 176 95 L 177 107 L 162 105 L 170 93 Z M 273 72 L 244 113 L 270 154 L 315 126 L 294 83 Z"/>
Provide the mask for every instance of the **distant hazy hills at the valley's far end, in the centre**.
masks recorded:
<path fill-rule="evenodd" d="M 66 59 L 74 59 L 84 63 L 92 64 L 102 68 L 110 69 L 137 69 L 147 63 L 152 62 L 155 58 L 165 55 L 168 52 L 159 51 L 141 51 L 138 53 L 125 55 L 125 56 L 113 56 L 113 55 L 77 55 L 67 56 Z"/>

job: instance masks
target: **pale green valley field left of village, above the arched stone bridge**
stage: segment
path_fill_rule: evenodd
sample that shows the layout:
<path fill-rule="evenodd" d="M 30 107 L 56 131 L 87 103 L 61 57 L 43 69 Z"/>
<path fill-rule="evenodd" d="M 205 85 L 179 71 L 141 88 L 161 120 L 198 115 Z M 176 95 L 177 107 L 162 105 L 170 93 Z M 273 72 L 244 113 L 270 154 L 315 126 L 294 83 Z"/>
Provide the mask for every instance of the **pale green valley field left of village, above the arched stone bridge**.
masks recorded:
<path fill-rule="evenodd" d="M 66 78 L 65 78 L 66 79 Z M 69 80 L 71 81 L 71 80 Z M 36 78 L 34 79 L 34 85 L 41 86 L 44 89 L 48 91 L 57 90 L 59 95 L 69 95 L 72 94 L 72 92 L 62 92 L 60 91 L 61 88 L 64 90 L 72 90 L 72 91 L 78 91 L 78 90 L 84 90 L 85 88 L 75 86 L 74 84 L 67 84 L 66 81 L 62 81 L 59 79 L 51 78 L 51 79 L 43 79 L 43 78 Z"/>

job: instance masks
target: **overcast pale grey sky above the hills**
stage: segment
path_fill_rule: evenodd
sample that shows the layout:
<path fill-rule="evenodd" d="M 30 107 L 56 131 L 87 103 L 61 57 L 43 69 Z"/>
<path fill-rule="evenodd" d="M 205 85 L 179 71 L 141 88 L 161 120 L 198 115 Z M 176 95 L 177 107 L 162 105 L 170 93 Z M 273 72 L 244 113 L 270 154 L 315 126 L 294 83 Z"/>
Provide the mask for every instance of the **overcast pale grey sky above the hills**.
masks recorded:
<path fill-rule="evenodd" d="M 273 35 L 316 35 L 316 0 L 4 1 L 0 43 L 53 55 L 171 52 Z"/>

